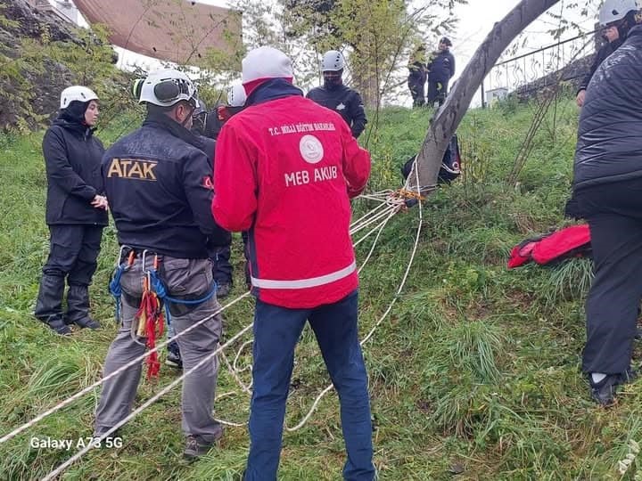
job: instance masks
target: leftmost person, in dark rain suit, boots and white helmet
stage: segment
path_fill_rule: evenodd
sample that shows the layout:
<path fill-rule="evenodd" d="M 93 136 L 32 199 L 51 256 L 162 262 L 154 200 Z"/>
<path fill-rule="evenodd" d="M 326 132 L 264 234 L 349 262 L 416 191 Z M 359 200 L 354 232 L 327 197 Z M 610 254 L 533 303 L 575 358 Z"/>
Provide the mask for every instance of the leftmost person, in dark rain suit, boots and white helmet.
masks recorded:
<path fill-rule="evenodd" d="M 58 334 L 69 325 L 97 329 L 89 316 L 89 284 L 96 270 L 107 200 L 103 197 L 103 144 L 95 135 L 98 96 L 86 86 L 61 94 L 61 111 L 43 139 L 47 176 L 49 257 L 43 267 L 34 315 Z M 67 312 L 62 313 L 65 280 Z"/>

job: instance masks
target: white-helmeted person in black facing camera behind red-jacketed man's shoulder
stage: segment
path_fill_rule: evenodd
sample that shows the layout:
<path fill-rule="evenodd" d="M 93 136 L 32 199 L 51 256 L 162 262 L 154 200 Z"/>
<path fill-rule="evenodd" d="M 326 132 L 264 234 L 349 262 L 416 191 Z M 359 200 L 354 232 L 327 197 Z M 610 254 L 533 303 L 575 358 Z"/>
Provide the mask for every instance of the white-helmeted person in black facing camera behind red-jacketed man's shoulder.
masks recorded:
<path fill-rule="evenodd" d="M 324 85 L 317 86 L 306 95 L 310 100 L 340 114 L 350 127 L 355 139 L 366 130 L 366 108 L 356 90 L 343 85 L 345 60 L 338 50 L 324 54 L 321 71 Z"/>

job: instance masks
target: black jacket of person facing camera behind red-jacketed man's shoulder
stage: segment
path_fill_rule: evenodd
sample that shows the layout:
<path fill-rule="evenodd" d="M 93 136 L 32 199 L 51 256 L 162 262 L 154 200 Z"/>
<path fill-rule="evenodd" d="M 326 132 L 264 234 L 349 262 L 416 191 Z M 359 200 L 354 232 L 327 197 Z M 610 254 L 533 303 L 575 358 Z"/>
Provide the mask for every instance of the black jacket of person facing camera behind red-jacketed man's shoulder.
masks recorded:
<path fill-rule="evenodd" d="M 310 90 L 306 97 L 340 114 L 350 126 L 355 138 L 358 138 L 366 130 L 366 109 L 361 95 L 356 90 L 344 85 L 333 88 L 317 86 Z"/>

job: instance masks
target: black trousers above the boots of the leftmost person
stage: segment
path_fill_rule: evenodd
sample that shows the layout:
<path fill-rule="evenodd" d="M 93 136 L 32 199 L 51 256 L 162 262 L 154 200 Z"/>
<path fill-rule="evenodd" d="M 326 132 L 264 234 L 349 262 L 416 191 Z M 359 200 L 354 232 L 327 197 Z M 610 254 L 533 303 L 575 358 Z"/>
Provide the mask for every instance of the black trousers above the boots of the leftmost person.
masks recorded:
<path fill-rule="evenodd" d="M 70 286 L 88 286 L 96 270 L 102 225 L 50 225 L 49 257 L 43 274 L 66 277 Z"/>

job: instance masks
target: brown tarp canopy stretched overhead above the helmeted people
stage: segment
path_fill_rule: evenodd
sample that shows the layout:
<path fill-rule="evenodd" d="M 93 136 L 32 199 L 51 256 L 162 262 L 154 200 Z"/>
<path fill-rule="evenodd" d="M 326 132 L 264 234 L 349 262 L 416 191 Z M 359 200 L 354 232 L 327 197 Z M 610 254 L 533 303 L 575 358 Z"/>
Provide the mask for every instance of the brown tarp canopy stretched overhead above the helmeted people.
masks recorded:
<path fill-rule="evenodd" d="M 107 25 L 110 41 L 164 61 L 198 64 L 212 48 L 241 48 L 241 12 L 185 0 L 74 0 L 90 23 Z"/>

